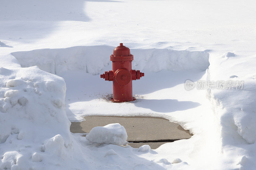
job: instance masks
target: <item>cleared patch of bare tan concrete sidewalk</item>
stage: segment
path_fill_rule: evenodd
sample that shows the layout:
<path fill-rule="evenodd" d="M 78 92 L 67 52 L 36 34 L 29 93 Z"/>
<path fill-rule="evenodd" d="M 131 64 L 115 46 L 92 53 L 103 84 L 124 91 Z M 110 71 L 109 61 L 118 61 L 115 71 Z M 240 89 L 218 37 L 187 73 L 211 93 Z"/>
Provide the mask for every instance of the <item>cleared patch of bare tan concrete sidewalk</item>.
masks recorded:
<path fill-rule="evenodd" d="M 93 127 L 119 123 L 126 129 L 129 145 L 140 147 L 148 144 L 152 149 L 160 145 L 180 139 L 188 139 L 192 135 L 179 124 L 158 117 L 118 117 L 118 116 L 86 116 L 84 122 L 71 122 L 72 133 L 89 133 Z"/>

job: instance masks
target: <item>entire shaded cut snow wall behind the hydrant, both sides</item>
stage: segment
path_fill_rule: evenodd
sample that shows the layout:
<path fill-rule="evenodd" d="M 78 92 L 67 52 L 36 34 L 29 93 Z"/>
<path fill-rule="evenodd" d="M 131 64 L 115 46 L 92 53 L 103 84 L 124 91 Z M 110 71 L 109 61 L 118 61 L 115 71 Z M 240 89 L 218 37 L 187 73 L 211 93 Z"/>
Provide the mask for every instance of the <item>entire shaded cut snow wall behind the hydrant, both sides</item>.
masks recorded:
<path fill-rule="evenodd" d="M 66 70 L 83 70 L 97 75 L 103 69 L 111 69 L 109 56 L 114 47 L 77 46 L 59 49 L 37 49 L 14 52 L 22 67 L 38 66 L 41 70 L 60 75 Z M 206 70 L 209 54 L 206 51 L 187 51 L 171 49 L 131 49 L 134 55 L 133 69 L 183 71 L 191 69 Z M 108 68 L 105 68 L 108 66 Z"/>

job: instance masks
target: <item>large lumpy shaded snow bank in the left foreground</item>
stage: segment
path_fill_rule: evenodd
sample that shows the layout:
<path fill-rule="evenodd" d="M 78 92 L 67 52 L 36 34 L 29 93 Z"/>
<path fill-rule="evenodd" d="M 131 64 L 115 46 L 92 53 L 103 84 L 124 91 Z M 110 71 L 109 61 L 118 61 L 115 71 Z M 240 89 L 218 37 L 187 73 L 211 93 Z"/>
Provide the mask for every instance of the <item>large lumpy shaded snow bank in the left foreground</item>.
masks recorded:
<path fill-rule="evenodd" d="M 85 160 L 69 131 L 65 92 L 63 78 L 36 66 L 0 68 L 0 169 L 70 169 Z"/>

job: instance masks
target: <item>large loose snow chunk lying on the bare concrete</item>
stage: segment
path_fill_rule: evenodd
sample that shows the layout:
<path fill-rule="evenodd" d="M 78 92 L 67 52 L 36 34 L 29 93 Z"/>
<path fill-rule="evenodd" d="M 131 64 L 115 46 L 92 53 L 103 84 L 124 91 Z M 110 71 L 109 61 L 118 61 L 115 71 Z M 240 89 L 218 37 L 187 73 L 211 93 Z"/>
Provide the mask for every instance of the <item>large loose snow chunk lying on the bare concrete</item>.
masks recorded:
<path fill-rule="evenodd" d="M 127 140 L 127 133 L 124 126 L 119 123 L 112 123 L 106 126 L 92 128 L 86 135 L 86 139 L 93 143 L 123 145 Z"/>

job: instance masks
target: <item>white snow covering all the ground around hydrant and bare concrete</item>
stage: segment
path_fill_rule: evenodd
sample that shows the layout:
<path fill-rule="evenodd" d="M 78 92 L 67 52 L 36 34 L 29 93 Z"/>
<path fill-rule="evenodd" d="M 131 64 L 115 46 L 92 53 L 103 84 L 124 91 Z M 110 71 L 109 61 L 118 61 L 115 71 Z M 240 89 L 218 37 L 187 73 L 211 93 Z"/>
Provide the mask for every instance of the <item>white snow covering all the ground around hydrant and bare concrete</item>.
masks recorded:
<path fill-rule="evenodd" d="M 254 170 L 255 14 L 252 0 L 1 1 L 0 169 Z M 120 42 L 145 72 L 130 103 L 109 102 L 98 75 Z M 187 79 L 244 88 L 186 91 Z M 193 136 L 92 143 L 69 131 L 85 115 L 164 117 Z"/>

